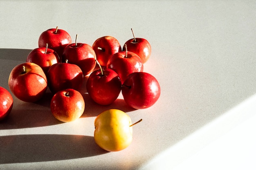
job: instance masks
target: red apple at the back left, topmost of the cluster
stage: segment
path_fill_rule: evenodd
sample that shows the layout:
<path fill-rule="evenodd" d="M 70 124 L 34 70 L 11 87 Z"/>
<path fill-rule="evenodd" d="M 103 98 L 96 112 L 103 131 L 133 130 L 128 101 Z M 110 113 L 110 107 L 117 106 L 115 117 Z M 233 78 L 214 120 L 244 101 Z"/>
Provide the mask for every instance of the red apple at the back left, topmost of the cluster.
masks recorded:
<path fill-rule="evenodd" d="M 61 59 L 63 50 L 72 43 L 72 40 L 67 31 L 58 29 L 57 26 L 56 29 L 48 29 L 39 36 L 38 47 L 45 47 L 46 43 L 48 43 L 49 49 L 56 51 Z"/>

